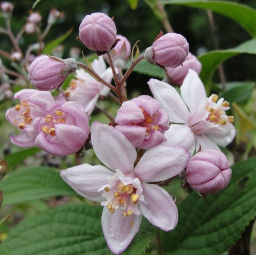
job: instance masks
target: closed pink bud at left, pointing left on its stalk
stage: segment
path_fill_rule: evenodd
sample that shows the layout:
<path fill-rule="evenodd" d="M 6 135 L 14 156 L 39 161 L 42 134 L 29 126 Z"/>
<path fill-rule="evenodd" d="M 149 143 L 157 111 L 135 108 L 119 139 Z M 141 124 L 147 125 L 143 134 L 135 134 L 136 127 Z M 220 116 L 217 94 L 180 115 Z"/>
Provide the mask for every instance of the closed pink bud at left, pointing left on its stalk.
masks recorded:
<path fill-rule="evenodd" d="M 41 55 L 29 66 L 29 79 L 39 90 L 57 89 L 76 70 L 76 60 Z"/>

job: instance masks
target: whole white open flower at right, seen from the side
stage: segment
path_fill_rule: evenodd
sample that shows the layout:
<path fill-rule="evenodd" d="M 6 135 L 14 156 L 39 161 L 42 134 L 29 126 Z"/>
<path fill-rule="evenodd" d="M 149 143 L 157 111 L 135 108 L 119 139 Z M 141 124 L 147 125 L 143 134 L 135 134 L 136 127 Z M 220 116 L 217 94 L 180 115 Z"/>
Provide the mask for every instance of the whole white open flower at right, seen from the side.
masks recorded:
<path fill-rule="evenodd" d="M 169 84 L 150 79 L 149 87 L 172 122 L 165 132 L 166 145 L 188 148 L 191 155 L 202 150 L 225 147 L 235 137 L 234 117 L 227 116 L 229 103 L 217 95 L 206 97 L 202 81 L 190 69 L 181 86 L 181 96 Z"/>

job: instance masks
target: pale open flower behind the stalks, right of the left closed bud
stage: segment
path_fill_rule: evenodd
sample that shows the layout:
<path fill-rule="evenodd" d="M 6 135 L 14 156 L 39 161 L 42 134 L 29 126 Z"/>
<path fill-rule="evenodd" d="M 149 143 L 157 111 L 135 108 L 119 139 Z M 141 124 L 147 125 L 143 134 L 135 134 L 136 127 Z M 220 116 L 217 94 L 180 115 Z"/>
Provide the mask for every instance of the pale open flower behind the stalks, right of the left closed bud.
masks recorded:
<path fill-rule="evenodd" d="M 106 82 L 111 82 L 113 73 L 111 68 L 106 69 L 106 64 L 102 56 L 94 59 L 92 63 L 93 70 Z M 91 115 L 100 96 L 106 96 L 110 89 L 95 80 L 83 69 L 76 70 L 76 80 L 73 79 L 69 88 L 65 91 L 66 97 L 70 100 L 79 102 L 88 115 Z"/>

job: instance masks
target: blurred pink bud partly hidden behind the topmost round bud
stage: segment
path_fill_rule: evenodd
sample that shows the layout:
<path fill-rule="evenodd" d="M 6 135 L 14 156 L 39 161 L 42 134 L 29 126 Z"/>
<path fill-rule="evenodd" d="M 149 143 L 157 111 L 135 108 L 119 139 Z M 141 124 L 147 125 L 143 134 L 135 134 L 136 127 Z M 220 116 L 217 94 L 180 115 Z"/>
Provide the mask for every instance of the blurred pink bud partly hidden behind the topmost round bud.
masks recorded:
<path fill-rule="evenodd" d="M 116 46 L 111 49 L 113 62 L 116 67 L 124 68 L 127 59 L 131 54 L 131 44 L 127 38 L 122 35 L 117 35 L 116 38 L 120 39 L 120 41 L 118 41 Z M 104 59 L 109 62 L 107 54 L 104 55 Z"/>

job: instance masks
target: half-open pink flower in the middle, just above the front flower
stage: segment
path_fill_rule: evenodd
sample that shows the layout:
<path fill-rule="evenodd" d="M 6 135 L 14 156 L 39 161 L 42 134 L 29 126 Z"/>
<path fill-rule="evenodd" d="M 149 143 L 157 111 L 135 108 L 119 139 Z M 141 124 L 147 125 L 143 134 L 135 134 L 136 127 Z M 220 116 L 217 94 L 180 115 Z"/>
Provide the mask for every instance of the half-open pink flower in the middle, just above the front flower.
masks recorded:
<path fill-rule="evenodd" d="M 166 141 L 164 131 L 169 119 L 160 103 L 150 96 L 126 101 L 117 111 L 116 129 L 121 131 L 134 147 L 149 149 Z"/>

